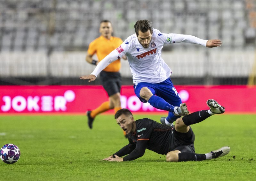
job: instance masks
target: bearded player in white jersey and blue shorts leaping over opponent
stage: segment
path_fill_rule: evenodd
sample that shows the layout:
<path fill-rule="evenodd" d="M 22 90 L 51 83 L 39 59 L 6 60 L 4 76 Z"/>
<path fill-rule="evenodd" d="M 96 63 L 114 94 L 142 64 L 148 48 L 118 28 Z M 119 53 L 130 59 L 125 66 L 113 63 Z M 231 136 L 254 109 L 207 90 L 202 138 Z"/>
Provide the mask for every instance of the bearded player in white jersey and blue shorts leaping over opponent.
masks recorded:
<path fill-rule="evenodd" d="M 129 36 L 119 47 L 108 54 L 94 69 L 91 75 L 80 79 L 94 81 L 98 74 L 111 62 L 126 55 L 130 64 L 134 91 L 141 102 L 148 102 L 157 109 L 169 111 L 161 118 L 161 123 L 172 126 L 180 116 L 188 115 L 186 103 L 182 103 L 172 84 L 172 70 L 161 57 L 166 44 L 193 43 L 204 47 L 219 47 L 221 40 L 202 40 L 191 35 L 161 33 L 153 29 L 148 20 L 139 20 L 134 25 L 135 34 Z"/>

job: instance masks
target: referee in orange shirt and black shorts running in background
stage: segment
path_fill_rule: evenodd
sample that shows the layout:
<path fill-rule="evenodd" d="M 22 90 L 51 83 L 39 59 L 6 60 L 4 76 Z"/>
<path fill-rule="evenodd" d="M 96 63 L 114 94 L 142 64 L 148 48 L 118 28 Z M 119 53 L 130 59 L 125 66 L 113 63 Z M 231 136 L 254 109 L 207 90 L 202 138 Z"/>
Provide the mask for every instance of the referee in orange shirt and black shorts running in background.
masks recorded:
<path fill-rule="evenodd" d="M 113 29 L 111 22 L 108 20 L 103 20 L 100 22 L 100 33 L 101 36 L 93 40 L 88 48 L 86 61 L 97 65 L 105 56 L 107 56 L 114 49 L 119 47 L 123 40 L 118 37 L 112 36 Z M 93 60 L 92 56 L 96 54 L 98 57 L 97 60 Z M 127 59 L 125 56 L 123 59 Z M 120 90 L 121 90 L 121 75 L 120 70 L 121 61 L 120 59 L 115 62 L 110 63 L 103 71 L 100 73 L 100 82 L 104 89 L 108 93 L 108 101 L 103 102 L 98 108 L 87 111 L 88 117 L 88 126 L 92 129 L 92 122 L 95 117 L 101 112 L 114 109 L 115 113 L 121 109 L 120 101 Z M 125 132 L 124 132 L 124 135 Z"/>

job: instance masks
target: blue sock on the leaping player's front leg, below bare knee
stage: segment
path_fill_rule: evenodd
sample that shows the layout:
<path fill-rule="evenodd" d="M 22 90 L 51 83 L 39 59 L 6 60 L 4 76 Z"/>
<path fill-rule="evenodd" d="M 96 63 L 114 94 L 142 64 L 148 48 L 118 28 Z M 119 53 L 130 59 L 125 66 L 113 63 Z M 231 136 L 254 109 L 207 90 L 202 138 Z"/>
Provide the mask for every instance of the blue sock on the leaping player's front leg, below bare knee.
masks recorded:
<path fill-rule="evenodd" d="M 148 99 L 148 103 L 157 109 L 174 112 L 175 106 L 170 105 L 163 98 L 160 98 L 158 96 L 151 96 L 151 98 Z"/>

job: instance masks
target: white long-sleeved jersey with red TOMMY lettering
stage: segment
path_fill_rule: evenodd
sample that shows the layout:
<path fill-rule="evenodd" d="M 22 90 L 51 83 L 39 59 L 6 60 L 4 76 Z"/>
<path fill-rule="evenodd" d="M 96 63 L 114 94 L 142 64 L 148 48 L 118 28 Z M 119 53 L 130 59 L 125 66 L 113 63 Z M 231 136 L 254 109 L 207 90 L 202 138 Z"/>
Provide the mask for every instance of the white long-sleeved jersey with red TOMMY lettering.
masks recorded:
<path fill-rule="evenodd" d="M 126 55 L 130 64 L 134 84 L 140 82 L 160 83 L 171 76 L 172 70 L 161 57 L 162 48 L 170 43 L 195 43 L 206 46 L 207 40 L 202 40 L 191 35 L 166 34 L 153 29 L 152 39 L 148 48 L 144 48 L 136 34 L 129 36 L 110 54 L 108 54 L 92 72 L 97 76 L 101 70 L 111 62 Z"/>

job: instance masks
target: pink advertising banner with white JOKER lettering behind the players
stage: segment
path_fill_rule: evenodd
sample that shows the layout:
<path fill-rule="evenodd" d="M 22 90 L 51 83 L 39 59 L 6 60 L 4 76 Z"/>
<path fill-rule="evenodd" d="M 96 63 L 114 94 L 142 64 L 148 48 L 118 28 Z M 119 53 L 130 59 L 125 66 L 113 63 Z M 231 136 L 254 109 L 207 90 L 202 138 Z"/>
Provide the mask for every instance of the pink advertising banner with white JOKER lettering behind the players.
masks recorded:
<path fill-rule="evenodd" d="M 175 86 L 190 112 L 207 109 L 215 99 L 226 113 L 256 113 L 256 86 Z M 165 113 L 142 103 L 133 86 L 122 86 L 121 104 L 132 112 Z M 102 86 L 0 86 L 0 115 L 17 113 L 81 113 L 98 107 L 108 96 Z M 113 112 L 113 111 L 109 111 Z"/>

